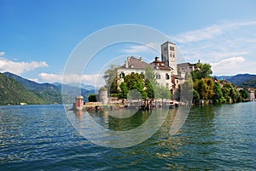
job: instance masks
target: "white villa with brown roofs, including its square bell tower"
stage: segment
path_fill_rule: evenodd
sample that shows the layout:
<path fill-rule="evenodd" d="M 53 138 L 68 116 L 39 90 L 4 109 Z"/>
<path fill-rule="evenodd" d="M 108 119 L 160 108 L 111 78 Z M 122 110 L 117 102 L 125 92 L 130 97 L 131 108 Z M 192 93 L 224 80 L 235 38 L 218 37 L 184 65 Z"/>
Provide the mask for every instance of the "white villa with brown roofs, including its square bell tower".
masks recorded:
<path fill-rule="evenodd" d="M 145 74 L 146 67 L 151 66 L 159 86 L 164 86 L 170 90 L 177 88 L 176 45 L 170 42 L 163 43 L 161 45 L 161 56 L 162 61 L 160 61 L 159 57 L 155 57 L 154 61 L 150 64 L 144 62 L 142 57 L 139 59 L 134 56 L 128 57 L 125 60 L 124 66 L 119 66 L 117 69 L 119 83 L 124 82 L 125 75 L 131 74 L 132 72 Z"/>

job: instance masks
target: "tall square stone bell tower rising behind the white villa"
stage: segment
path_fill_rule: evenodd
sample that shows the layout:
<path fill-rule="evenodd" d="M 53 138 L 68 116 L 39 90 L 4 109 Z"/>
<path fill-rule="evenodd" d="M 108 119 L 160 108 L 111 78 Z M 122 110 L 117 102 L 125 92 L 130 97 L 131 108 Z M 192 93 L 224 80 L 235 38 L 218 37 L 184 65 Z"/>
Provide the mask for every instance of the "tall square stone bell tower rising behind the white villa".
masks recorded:
<path fill-rule="evenodd" d="M 161 60 L 166 66 L 172 67 L 173 74 L 177 75 L 176 44 L 169 41 L 161 44 Z"/>

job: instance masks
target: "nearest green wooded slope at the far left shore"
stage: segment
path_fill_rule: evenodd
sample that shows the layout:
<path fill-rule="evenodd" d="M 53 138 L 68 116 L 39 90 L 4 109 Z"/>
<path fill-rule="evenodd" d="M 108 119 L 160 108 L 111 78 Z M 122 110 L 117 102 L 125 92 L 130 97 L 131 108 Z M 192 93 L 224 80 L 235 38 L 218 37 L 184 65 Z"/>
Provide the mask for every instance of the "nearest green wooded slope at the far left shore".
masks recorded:
<path fill-rule="evenodd" d="M 21 83 L 0 73 L 0 105 L 47 104 Z"/>

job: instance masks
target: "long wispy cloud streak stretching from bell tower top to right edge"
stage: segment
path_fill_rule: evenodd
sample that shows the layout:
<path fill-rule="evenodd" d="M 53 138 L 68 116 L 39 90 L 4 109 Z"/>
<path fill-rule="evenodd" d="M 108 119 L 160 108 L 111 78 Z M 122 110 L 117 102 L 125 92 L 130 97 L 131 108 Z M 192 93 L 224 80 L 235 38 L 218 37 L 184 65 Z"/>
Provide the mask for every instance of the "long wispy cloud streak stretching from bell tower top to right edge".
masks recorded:
<path fill-rule="evenodd" d="M 187 31 L 172 37 L 172 39 L 177 43 L 199 42 L 220 36 L 225 31 L 234 30 L 236 27 L 253 25 L 256 25 L 256 21 L 224 23 L 222 25 L 207 26 L 195 31 Z"/>

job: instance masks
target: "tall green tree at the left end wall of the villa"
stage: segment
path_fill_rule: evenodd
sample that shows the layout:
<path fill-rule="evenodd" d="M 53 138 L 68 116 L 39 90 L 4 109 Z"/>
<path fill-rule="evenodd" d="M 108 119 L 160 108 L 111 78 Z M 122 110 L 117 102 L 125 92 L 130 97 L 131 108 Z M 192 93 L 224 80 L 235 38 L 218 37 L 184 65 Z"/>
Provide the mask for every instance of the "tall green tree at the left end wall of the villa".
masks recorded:
<path fill-rule="evenodd" d="M 109 69 L 104 72 L 103 76 L 107 88 L 111 94 L 117 94 L 118 93 L 118 85 L 117 85 L 117 66 L 110 65 Z"/>

